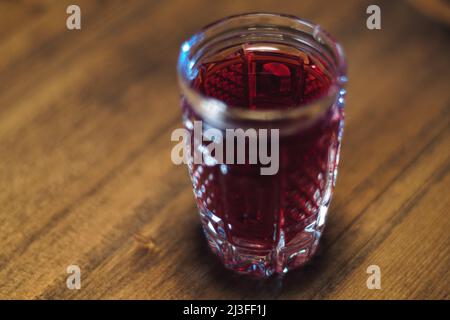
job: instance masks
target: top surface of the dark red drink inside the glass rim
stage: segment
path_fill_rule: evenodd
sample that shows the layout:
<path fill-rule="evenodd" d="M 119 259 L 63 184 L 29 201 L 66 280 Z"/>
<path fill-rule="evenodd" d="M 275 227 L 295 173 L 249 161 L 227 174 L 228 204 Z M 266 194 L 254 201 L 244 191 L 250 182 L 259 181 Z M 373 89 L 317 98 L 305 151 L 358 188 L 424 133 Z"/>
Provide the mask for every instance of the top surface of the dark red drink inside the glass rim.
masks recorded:
<path fill-rule="evenodd" d="M 323 96 L 331 84 L 320 59 L 273 44 L 231 48 L 198 69 L 197 90 L 248 109 L 299 107 Z"/>

